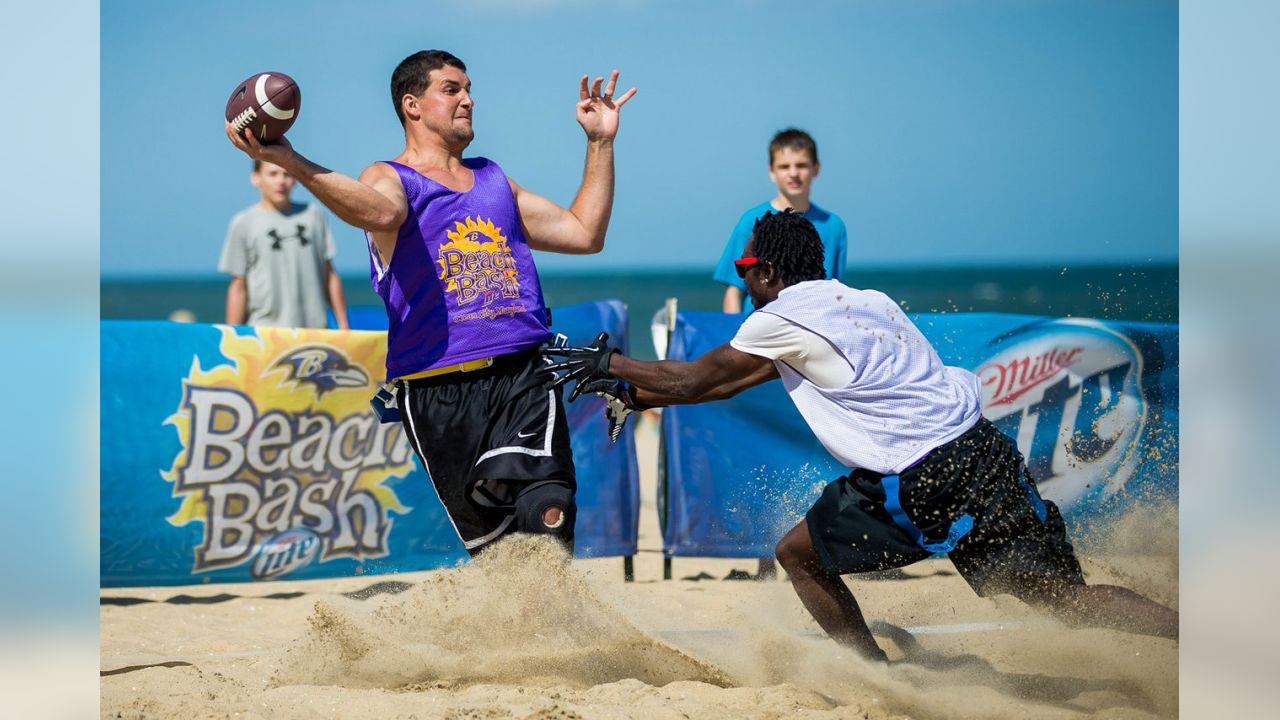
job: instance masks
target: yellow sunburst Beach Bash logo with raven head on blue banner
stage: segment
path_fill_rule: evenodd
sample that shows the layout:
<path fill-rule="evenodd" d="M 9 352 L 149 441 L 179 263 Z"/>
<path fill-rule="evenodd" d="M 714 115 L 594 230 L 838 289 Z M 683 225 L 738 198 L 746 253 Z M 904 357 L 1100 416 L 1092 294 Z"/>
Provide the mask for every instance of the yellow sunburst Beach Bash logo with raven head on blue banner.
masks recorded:
<path fill-rule="evenodd" d="M 161 473 L 180 501 L 169 523 L 204 524 L 192 573 L 247 564 L 268 579 L 388 555 L 392 512 L 410 511 L 388 480 L 413 460 L 401 425 L 379 423 L 369 406 L 366 368 L 383 365 L 385 341 L 326 340 L 324 331 L 224 327 L 229 363 L 206 370 L 192 360 L 165 420 L 182 447 Z"/>

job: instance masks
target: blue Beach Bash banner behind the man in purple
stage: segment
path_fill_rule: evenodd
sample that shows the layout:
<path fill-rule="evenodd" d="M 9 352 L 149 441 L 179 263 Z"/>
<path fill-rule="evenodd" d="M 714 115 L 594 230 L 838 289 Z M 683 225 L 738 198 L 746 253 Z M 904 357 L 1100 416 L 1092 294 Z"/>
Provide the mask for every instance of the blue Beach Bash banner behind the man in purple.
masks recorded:
<path fill-rule="evenodd" d="M 626 309 L 557 309 L 586 343 Z M 385 333 L 166 322 L 101 324 L 101 584 L 379 574 L 466 552 L 398 423 L 369 398 Z M 632 555 L 639 470 L 604 402 L 568 406 L 576 555 Z"/>

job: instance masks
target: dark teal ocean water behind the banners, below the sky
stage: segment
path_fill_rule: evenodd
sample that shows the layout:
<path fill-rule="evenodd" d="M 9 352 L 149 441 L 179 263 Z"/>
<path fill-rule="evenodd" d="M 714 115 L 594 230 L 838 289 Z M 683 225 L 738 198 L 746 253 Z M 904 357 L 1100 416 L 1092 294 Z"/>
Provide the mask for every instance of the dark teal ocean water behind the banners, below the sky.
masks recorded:
<path fill-rule="evenodd" d="M 639 270 L 541 275 L 547 302 L 622 300 L 631 352 L 653 359 L 649 323 L 668 297 L 684 310 L 719 310 L 723 286 L 707 270 Z M 1103 320 L 1178 322 L 1178 265 L 860 268 L 844 282 L 876 288 L 909 313 L 1020 313 Z M 367 275 L 344 277 L 348 305 L 381 307 Z M 227 279 L 218 275 L 102 278 L 102 319 L 165 319 L 186 310 L 201 323 L 224 319 Z"/>

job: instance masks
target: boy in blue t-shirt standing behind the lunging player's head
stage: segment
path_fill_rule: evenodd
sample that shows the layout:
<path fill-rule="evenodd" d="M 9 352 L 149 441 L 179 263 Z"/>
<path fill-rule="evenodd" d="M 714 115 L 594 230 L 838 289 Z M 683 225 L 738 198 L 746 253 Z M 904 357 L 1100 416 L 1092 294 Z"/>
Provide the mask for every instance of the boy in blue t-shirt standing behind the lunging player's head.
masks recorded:
<path fill-rule="evenodd" d="M 746 247 L 746 241 L 751 237 L 755 220 L 769 210 L 780 211 L 791 208 L 808 218 L 818 228 L 818 237 L 822 238 L 823 266 L 827 269 L 827 277 L 840 279 L 840 274 L 845 269 L 849 238 L 845 232 L 845 222 L 838 215 L 809 201 L 809 192 L 813 188 L 814 178 L 818 177 L 819 168 L 818 143 L 803 129 L 787 128 L 774 135 L 773 140 L 769 141 L 769 179 L 778 187 L 778 195 L 742 214 L 733 228 L 733 234 L 728 238 L 728 245 L 724 246 L 724 254 L 721 255 L 719 263 L 716 265 L 713 277 L 716 282 L 726 286 L 723 304 L 726 313 L 744 310 L 750 313 L 755 309 L 750 299 L 744 302 L 742 296 L 746 286 L 737 277 L 733 260 L 742 256 L 742 249 Z"/>

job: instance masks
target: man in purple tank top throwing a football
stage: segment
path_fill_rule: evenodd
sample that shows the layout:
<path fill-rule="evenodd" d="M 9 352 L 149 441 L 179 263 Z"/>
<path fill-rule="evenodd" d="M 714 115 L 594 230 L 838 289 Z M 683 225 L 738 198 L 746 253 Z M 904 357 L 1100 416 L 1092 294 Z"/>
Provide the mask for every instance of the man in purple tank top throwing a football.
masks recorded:
<path fill-rule="evenodd" d="M 513 532 L 552 534 L 572 550 L 576 478 L 558 388 L 535 372 L 550 338 L 531 250 L 604 247 L 613 209 L 613 141 L 635 88 L 614 97 L 582 76 L 577 122 L 586 169 L 568 209 L 463 158 L 475 132 L 466 65 L 443 50 L 392 73 L 404 150 L 351 178 L 288 140 L 227 136 L 287 169 L 369 240 L 374 290 L 387 305 L 387 378 L 406 433 L 468 552 Z"/>

